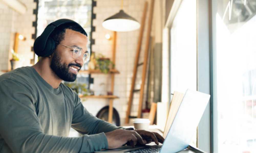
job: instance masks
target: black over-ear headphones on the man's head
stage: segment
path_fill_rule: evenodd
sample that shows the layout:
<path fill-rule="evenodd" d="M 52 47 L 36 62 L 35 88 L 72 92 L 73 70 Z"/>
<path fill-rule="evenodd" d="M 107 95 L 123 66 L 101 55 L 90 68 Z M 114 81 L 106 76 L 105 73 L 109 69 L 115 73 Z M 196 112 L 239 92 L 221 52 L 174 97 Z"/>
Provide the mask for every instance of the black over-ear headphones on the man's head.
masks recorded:
<path fill-rule="evenodd" d="M 59 19 L 59 20 L 56 20 L 56 21 L 50 23 L 49 25 L 47 25 L 47 27 L 45 28 L 43 33 L 40 36 L 38 36 L 34 42 L 33 48 L 34 48 L 34 52 L 36 53 L 36 55 L 41 56 L 41 57 L 47 57 L 53 53 L 54 48 L 55 48 L 55 42 L 49 36 L 52 33 L 52 31 L 54 31 L 54 29 L 56 27 L 58 27 L 62 24 L 66 24 L 66 23 L 76 23 L 77 25 L 79 25 L 81 27 L 80 24 L 78 24 L 77 22 L 75 22 L 73 20 L 69 20 L 69 19 Z M 86 36 L 87 36 L 87 33 L 86 33 Z"/>

